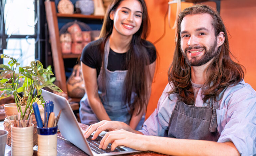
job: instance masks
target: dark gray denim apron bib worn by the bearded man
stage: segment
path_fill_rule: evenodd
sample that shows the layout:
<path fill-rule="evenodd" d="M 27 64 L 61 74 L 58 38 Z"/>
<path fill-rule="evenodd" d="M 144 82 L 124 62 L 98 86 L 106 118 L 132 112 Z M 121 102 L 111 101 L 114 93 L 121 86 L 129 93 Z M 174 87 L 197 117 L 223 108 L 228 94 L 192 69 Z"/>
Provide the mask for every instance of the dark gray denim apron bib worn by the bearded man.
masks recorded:
<path fill-rule="evenodd" d="M 206 107 L 177 101 L 169 122 L 168 137 L 217 141 L 217 102 L 210 99 Z"/>

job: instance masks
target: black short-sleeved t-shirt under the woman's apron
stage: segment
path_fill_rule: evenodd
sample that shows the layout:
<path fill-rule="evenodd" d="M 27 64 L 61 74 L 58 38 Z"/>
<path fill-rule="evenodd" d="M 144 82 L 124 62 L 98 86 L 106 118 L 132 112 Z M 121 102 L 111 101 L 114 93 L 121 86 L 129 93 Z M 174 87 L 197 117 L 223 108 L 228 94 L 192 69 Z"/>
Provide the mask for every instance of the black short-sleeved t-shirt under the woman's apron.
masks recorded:
<path fill-rule="evenodd" d="M 90 42 L 87 44 L 82 51 L 82 55 L 80 60 L 87 66 L 91 68 L 95 68 L 97 71 L 97 77 L 100 72 L 100 67 L 101 67 L 101 55 L 100 55 L 100 45 L 103 42 L 103 39 L 98 39 L 95 41 Z M 149 54 L 149 62 L 153 63 L 157 56 L 156 56 L 156 48 L 155 46 L 146 40 L 143 40 L 144 44 L 146 45 L 146 49 Z M 115 70 L 127 70 L 127 66 L 125 65 L 125 58 L 126 58 L 125 53 L 116 53 L 114 52 L 111 48 L 109 50 L 109 55 L 108 55 L 108 65 L 107 69 L 110 71 L 115 71 Z"/>

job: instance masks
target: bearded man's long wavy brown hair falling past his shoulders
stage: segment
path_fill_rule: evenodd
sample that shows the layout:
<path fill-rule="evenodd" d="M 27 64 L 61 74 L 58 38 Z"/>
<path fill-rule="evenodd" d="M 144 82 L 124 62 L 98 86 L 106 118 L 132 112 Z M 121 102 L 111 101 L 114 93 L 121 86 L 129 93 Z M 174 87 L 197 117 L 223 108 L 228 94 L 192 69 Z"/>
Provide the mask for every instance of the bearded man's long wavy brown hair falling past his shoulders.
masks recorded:
<path fill-rule="evenodd" d="M 207 67 L 207 80 L 202 87 L 203 102 L 207 99 L 213 98 L 215 101 L 219 100 L 218 95 L 230 85 L 235 85 L 242 81 L 244 72 L 242 66 L 234 62 L 230 56 L 234 58 L 229 50 L 227 32 L 222 19 L 216 10 L 209 8 L 207 5 L 194 5 L 186 8 L 179 14 L 177 20 L 177 34 L 176 47 L 173 57 L 172 65 L 168 70 L 168 80 L 170 85 L 173 85 L 173 90 L 170 94 L 177 93 L 178 99 L 188 105 L 194 104 L 194 94 L 192 84 L 190 82 L 191 69 L 186 63 L 182 55 L 181 47 L 181 22 L 186 15 L 190 14 L 204 14 L 207 13 L 212 17 L 212 26 L 214 28 L 215 37 L 223 32 L 225 35 L 224 43 L 218 47 L 216 56 Z M 237 61 L 237 60 L 236 60 Z"/>

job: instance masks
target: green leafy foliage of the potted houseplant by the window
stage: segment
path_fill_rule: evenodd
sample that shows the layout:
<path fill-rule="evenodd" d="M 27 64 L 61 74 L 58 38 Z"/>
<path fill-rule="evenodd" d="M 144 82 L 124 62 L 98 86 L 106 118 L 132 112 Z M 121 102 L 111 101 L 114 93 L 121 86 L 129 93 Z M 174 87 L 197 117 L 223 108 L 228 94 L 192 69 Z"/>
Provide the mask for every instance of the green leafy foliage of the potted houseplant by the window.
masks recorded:
<path fill-rule="evenodd" d="M 8 65 L 0 64 L 0 100 L 11 95 L 21 114 L 21 119 L 32 113 L 32 104 L 38 100 L 44 102 L 41 96 L 42 88 L 48 87 L 54 91 L 62 92 L 62 90 L 52 83 L 50 75 L 54 75 L 49 69 L 45 69 L 40 61 L 32 61 L 30 66 L 19 67 L 19 62 L 13 57 L 1 54 L 1 58 L 11 59 Z M 16 70 L 18 68 L 18 74 Z M 9 76 L 9 77 L 8 77 Z M 8 77 L 8 78 L 7 78 Z M 21 106 L 26 106 L 22 111 Z M 27 116 L 28 117 L 28 116 Z"/>

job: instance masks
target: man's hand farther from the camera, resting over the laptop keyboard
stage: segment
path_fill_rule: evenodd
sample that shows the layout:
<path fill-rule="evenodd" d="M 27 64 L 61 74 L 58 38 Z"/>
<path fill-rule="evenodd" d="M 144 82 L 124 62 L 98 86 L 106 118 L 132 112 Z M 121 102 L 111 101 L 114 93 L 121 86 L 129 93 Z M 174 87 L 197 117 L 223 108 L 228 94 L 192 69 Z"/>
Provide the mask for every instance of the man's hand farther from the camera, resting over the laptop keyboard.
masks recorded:
<path fill-rule="evenodd" d="M 91 124 L 84 132 L 84 137 L 88 138 L 91 135 L 91 133 L 95 131 L 92 139 L 96 139 L 97 136 L 104 130 L 114 131 L 114 130 L 119 130 L 119 129 L 125 129 L 128 131 L 133 130 L 131 127 L 129 127 L 124 122 L 102 120 L 98 123 Z"/>

